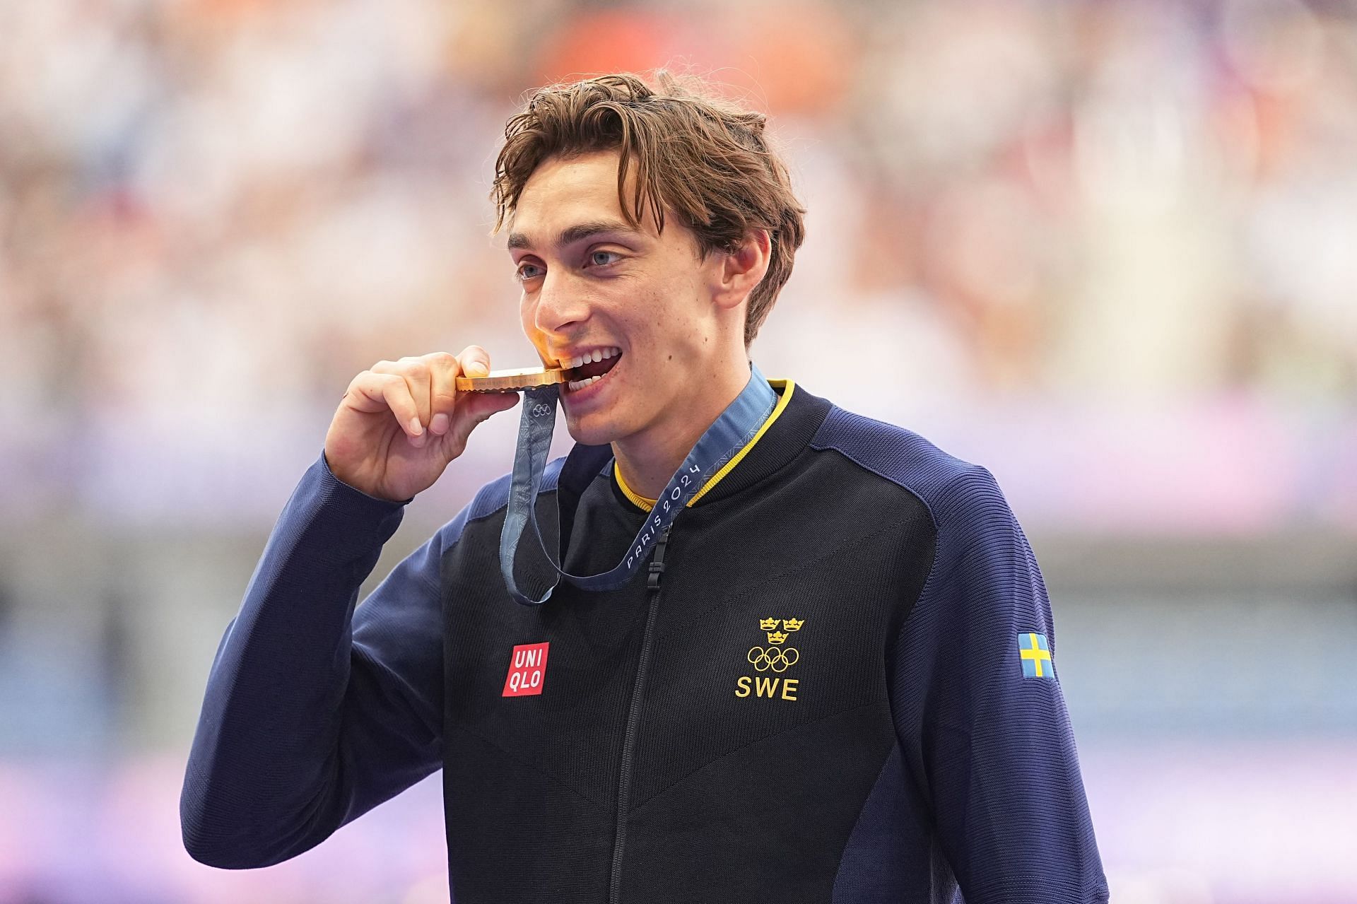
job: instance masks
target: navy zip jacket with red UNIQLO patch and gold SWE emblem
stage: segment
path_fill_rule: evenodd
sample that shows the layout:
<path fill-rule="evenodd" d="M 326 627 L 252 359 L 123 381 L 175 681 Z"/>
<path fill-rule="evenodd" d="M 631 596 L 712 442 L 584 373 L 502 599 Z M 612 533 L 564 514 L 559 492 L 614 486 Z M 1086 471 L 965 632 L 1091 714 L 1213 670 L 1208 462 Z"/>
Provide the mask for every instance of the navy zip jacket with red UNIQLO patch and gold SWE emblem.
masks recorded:
<path fill-rule="evenodd" d="M 403 504 L 322 456 L 212 666 L 190 854 L 277 863 L 442 768 L 463 903 L 1106 901 L 1046 589 L 993 478 L 773 385 L 662 580 L 541 607 L 499 576 L 508 478 L 356 605 Z M 577 445 L 539 517 L 588 574 L 646 510 Z"/>

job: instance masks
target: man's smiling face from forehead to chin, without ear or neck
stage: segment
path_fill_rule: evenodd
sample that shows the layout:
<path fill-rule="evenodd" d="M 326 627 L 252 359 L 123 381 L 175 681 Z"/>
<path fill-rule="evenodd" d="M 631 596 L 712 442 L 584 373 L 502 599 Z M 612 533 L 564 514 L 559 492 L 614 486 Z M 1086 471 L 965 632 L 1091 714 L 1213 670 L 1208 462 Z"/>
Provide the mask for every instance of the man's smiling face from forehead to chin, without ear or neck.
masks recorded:
<path fill-rule="evenodd" d="M 673 433 L 718 353 L 721 255 L 702 261 L 672 214 L 664 235 L 649 210 L 639 228 L 627 225 L 615 151 L 544 160 L 518 197 L 509 252 L 524 333 L 543 362 L 597 354 L 592 369 L 611 364 L 589 385 L 562 387 L 570 434 L 603 445 Z"/>

